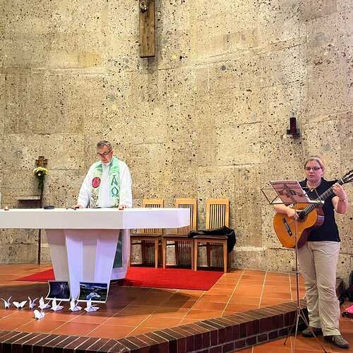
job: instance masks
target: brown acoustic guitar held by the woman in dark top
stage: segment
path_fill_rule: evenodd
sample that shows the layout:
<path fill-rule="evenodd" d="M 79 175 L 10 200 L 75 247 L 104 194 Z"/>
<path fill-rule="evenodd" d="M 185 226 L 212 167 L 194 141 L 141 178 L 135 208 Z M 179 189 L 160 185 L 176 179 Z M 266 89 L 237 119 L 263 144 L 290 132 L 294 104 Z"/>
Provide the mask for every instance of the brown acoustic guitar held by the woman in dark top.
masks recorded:
<path fill-rule="evenodd" d="M 345 174 L 337 184 L 343 185 L 353 180 L 353 169 Z M 333 187 L 322 193 L 316 201 L 325 201 L 333 195 Z M 308 239 L 311 229 L 320 227 L 323 224 L 324 216 L 321 209 L 321 203 L 298 203 L 294 205 L 299 219 L 297 222 L 297 238 L 295 220 L 282 213 L 276 213 L 273 219 L 273 228 L 278 239 L 285 248 L 294 248 L 297 245 L 300 248 Z"/>

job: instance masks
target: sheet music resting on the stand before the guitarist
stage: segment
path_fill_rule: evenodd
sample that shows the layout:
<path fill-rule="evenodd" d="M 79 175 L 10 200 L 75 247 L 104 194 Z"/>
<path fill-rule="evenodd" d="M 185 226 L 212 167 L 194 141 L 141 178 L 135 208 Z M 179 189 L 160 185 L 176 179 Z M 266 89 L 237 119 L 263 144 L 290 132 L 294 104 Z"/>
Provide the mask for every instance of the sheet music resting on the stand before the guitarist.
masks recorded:
<path fill-rule="evenodd" d="M 306 192 L 301 188 L 297 180 L 276 180 L 270 181 L 270 184 L 275 189 L 281 201 L 274 203 L 284 203 L 290 205 L 291 203 L 310 203 L 311 200 Z M 317 201 L 315 201 L 317 202 Z"/>

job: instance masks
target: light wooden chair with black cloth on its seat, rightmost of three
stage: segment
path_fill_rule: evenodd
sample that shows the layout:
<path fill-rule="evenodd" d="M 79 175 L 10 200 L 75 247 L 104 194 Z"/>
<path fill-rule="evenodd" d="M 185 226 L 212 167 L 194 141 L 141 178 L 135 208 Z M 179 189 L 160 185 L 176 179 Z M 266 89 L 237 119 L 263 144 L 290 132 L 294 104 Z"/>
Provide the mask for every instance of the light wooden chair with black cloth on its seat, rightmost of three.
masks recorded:
<path fill-rule="evenodd" d="M 229 227 L 229 199 L 228 198 L 209 198 L 206 201 L 206 229 Z M 194 269 L 198 265 L 198 249 L 201 244 L 206 246 L 207 264 L 211 262 L 211 247 L 222 246 L 223 269 L 227 272 L 230 263 L 230 254 L 227 252 L 227 237 L 225 235 L 198 235 L 194 241 Z"/>

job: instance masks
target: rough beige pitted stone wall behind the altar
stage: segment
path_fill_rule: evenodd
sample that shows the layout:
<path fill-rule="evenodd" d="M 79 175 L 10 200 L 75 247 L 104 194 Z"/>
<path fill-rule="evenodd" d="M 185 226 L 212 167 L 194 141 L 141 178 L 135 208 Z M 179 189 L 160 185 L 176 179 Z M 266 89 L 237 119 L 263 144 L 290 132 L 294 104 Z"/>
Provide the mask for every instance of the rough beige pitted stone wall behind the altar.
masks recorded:
<path fill-rule="evenodd" d="M 301 179 L 313 153 L 328 179 L 353 166 L 353 1 L 157 3 L 157 56 L 140 59 L 136 0 L 1 1 L 2 204 L 37 193 L 38 155 L 45 202 L 74 203 L 106 138 L 131 168 L 134 205 L 198 198 L 202 228 L 206 198 L 229 197 L 233 265 L 292 269 L 260 189 Z M 338 217 L 345 277 L 352 216 Z M 35 261 L 35 249 L 36 232 L 1 232 L 1 262 Z"/>

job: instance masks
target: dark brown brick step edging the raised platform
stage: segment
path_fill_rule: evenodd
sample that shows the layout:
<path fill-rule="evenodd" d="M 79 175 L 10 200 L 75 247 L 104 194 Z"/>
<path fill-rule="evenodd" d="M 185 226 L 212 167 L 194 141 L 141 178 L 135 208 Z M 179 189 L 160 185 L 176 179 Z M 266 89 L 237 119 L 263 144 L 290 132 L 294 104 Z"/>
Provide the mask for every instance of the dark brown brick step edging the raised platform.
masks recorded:
<path fill-rule="evenodd" d="M 300 306 L 306 314 L 306 301 Z M 291 301 L 121 340 L 0 331 L 0 352 L 232 352 L 285 337 L 296 313 L 297 304 Z"/>

